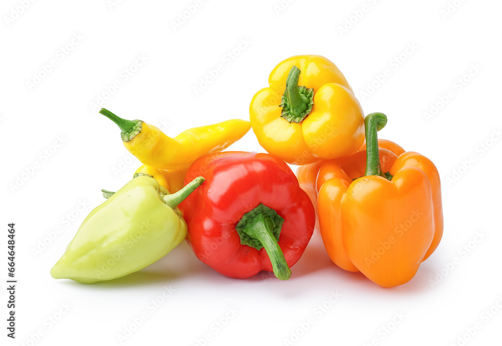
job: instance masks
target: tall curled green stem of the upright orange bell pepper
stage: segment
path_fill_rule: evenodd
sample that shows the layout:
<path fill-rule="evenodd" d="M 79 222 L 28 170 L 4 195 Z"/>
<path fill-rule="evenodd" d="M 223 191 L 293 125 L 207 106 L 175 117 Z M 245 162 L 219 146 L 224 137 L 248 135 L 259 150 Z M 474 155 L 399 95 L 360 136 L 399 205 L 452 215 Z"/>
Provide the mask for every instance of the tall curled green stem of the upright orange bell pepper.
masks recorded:
<path fill-rule="evenodd" d="M 382 172 L 376 132 L 382 130 L 387 124 L 384 113 L 371 113 L 364 119 L 364 132 L 366 136 L 366 173 L 364 175 L 378 175 L 387 179 Z"/>

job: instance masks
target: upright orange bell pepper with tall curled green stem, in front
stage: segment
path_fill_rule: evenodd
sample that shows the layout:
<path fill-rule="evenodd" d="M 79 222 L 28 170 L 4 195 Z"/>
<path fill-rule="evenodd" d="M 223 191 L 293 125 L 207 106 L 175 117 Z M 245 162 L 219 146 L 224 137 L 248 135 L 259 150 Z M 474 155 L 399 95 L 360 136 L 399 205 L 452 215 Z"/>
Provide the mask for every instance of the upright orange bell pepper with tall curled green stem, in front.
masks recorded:
<path fill-rule="evenodd" d="M 317 203 L 331 260 L 382 287 L 393 287 L 411 280 L 437 248 L 443 217 L 434 164 L 418 153 L 396 157 L 378 149 L 376 131 L 386 122 L 384 114 L 370 114 L 367 151 L 353 155 L 352 164 L 347 160 L 330 169 L 321 167 Z"/>

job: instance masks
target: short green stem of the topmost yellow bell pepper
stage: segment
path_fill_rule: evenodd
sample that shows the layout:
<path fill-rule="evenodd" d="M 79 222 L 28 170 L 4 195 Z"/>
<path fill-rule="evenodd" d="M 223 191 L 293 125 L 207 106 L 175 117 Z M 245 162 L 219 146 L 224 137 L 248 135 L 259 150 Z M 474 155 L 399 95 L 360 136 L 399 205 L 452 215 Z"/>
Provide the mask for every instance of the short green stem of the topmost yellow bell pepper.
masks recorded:
<path fill-rule="evenodd" d="M 312 111 L 314 105 L 314 89 L 298 86 L 302 71 L 293 66 L 286 79 L 286 89 L 280 107 L 283 108 L 281 118 L 289 123 L 301 123 Z"/>

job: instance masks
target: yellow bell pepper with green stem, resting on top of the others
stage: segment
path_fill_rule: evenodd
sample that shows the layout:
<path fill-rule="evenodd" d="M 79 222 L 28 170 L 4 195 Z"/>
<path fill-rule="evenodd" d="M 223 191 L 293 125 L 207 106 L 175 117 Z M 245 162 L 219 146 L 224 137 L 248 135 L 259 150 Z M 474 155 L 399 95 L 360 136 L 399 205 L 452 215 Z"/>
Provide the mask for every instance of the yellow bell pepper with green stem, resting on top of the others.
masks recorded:
<path fill-rule="evenodd" d="M 279 63 L 269 87 L 253 97 L 249 119 L 260 145 L 295 165 L 353 154 L 364 141 L 359 101 L 335 64 L 319 55 Z"/>

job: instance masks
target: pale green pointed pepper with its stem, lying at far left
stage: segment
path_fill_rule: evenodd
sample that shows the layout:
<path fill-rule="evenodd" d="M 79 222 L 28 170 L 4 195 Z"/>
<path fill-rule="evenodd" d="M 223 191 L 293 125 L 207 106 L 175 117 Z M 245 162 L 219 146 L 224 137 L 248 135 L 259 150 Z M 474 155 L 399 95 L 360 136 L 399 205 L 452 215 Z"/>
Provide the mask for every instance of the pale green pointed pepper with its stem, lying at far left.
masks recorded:
<path fill-rule="evenodd" d="M 164 257 L 186 236 L 176 205 L 204 179 L 170 194 L 152 177 L 134 178 L 94 208 L 51 270 L 55 279 L 90 284 L 126 276 Z"/>

